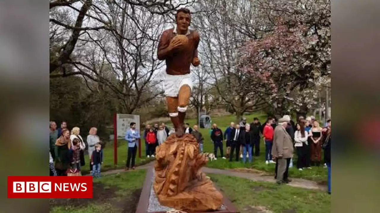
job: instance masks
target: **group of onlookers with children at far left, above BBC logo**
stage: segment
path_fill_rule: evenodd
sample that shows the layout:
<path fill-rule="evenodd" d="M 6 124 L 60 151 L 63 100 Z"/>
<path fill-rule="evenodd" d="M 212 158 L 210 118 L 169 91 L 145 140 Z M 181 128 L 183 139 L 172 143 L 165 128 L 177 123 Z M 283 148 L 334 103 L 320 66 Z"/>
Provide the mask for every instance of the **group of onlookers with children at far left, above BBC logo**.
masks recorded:
<path fill-rule="evenodd" d="M 49 123 L 49 170 L 51 176 L 80 175 L 81 168 L 86 165 L 86 150 L 91 175 L 100 177 L 103 163 L 102 141 L 97 136 L 97 128 L 89 130 L 87 140 L 80 135 L 80 128 L 67 127 L 61 122 L 59 128 L 54 121 Z"/>

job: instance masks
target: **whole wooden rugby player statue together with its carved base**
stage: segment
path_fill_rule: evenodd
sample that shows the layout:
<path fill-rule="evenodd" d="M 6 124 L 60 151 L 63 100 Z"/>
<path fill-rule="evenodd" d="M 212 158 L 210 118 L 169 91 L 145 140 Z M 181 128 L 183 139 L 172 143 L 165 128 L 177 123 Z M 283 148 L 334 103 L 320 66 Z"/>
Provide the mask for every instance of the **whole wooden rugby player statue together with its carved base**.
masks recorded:
<path fill-rule="evenodd" d="M 199 34 L 189 30 L 190 11 L 179 9 L 175 28 L 165 30 L 157 56 L 166 61 L 166 104 L 176 134 L 156 148 L 153 188 L 161 205 L 187 212 L 217 210 L 222 194 L 200 168 L 207 156 L 200 154 L 193 135 L 184 134 L 184 119 L 192 88 L 190 64 L 199 65 Z"/>

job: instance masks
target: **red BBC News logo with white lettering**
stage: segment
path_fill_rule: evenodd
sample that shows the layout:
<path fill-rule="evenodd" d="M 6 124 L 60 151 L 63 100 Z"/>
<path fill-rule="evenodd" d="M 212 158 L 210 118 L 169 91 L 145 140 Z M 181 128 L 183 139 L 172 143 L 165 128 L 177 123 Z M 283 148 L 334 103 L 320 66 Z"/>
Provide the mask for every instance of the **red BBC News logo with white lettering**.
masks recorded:
<path fill-rule="evenodd" d="M 92 198 L 92 177 L 8 176 L 8 198 Z"/>

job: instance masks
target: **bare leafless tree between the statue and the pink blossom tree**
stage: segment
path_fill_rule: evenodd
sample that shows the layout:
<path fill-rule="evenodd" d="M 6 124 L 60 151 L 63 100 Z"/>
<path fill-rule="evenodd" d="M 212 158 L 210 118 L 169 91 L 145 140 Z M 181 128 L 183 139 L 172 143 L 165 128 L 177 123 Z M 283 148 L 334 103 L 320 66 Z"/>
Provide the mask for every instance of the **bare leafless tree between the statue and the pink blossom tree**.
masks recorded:
<path fill-rule="evenodd" d="M 255 37 L 259 30 L 247 29 L 239 19 L 248 25 L 253 22 L 253 15 L 245 16 L 245 11 L 252 11 L 245 3 L 249 1 L 233 0 L 200 0 L 196 10 L 208 8 L 207 11 L 195 14 L 193 23 L 201 34 L 199 52 L 201 62 L 209 71 L 223 103 L 227 105 L 237 119 L 247 111 L 260 110 L 267 103 L 260 83 L 250 80 L 250 75 L 237 66 L 239 48 Z M 240 11 L 240 12 L 236 12 Z M 239 28 L 239 30 L 236 30 Z"/>

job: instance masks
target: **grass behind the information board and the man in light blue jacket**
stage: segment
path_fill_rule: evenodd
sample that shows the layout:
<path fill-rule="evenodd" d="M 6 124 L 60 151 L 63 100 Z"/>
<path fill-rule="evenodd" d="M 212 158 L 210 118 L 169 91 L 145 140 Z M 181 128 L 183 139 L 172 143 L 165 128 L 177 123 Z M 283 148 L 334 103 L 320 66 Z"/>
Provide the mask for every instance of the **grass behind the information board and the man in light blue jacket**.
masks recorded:
<path fill-rule="evenodd" d="M 125 141 L 124 139 L 120 139 L 117 141 L 117 143 L 119 144 L 119 146 L 117 147 L 117 165 L 114 165 L 114 146 L 113 141 L 111 141 L 108 144 L 106 144 L 105 148 L 103 149 L 103 164 L 101 165 L 101 171 L 107 171 L 109 169 L 122 169 L 125 167 L 128 152 L 127 141 Z M 146 158 L 144 141 L 142 140 L 141 143 L 143 144 L 141 147 L 141 158 L 138 157 L 137 151 L 135 161 L 136 166 L 149 163 L 153 160 L 153 158 Z M 86 153 L 87 150 L 85 154 Z M 82 174 L 88 174 L 90 171 L 88 155 L 86 155 L 86 158 L 86 165 L 81 168 Z"/>

